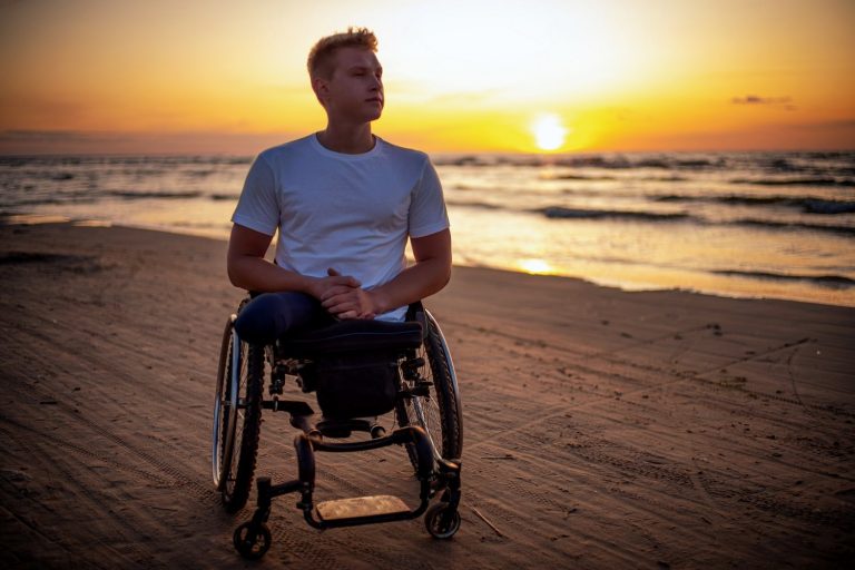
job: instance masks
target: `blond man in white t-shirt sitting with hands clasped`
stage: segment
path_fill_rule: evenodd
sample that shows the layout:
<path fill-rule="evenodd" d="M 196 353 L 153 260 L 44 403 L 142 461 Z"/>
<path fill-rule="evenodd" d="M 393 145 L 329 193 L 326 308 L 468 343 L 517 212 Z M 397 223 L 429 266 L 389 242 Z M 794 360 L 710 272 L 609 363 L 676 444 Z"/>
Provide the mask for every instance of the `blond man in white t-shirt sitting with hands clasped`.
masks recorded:
<path fill-rule="evenodd" d="M 321 39 L 308 72 L 326 129 L 263 151 L 249 169 L 228 246 L 232 283 L 265 293 L 235 323 L 249 342 L 332 318 L 400 321 L 449 282 L 436 171 L 425 154 L 371 131 L 385 102 L 375 52 L 364 28 Z M 264 255 L 277 229 L 274 265 Z"/>

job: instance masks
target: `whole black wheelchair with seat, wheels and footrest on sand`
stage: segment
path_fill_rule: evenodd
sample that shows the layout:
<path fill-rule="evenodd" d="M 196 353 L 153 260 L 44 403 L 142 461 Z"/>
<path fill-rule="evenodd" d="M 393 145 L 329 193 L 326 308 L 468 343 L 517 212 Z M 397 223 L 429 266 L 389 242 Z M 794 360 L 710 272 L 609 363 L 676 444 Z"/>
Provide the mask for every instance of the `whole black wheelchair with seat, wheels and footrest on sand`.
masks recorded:
<path fill-rule="evenodd" d="M 238 312 L 249 299 L 243 299 Z M 340 321 L 269 345 L 242 341 L 236 318 L 230 315 L 223 333 L 212 433 L 213 478 L 223 507 L 234 513 L 248 500 L 263 411 L 288 414 L 297 461 L 294 480 L 274 484 L 269 476 L 257 479 L 254 514 L 233 537 L 239 554 L 259 559 L 267 552 L 272 501 L 287 493 L 299 493 L 297 508 L 316 529 L 424 514 L 432 537 L 453 537 L 461 522 L 462 410 L 449 346 L 422 303 L 409 306 L 404 322 Z M 306 397 L 283 397 L 289 383 L 303 393 L 314 392 L 320 417 Z M 394 430 L 386 433 L 379 417 Z M 409 460 L 419 481 L 417 507 L 393 495 L 315 502 L 315 453 L 391 445 L 406 451 L 402 461 Z"/>

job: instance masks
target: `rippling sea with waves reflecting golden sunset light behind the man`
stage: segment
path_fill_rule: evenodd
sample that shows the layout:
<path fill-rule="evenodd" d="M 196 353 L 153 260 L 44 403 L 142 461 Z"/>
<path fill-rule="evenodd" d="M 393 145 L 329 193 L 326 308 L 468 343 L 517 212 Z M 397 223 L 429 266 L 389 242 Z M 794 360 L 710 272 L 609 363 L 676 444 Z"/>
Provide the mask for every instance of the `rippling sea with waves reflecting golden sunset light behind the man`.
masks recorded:
<path fill-rule="evenodd" d="M 431 158 L 458 265 L 855 306 L 855 151 Z M 226 239 L 252 161 L 4 156 L 0 223 Z"/>

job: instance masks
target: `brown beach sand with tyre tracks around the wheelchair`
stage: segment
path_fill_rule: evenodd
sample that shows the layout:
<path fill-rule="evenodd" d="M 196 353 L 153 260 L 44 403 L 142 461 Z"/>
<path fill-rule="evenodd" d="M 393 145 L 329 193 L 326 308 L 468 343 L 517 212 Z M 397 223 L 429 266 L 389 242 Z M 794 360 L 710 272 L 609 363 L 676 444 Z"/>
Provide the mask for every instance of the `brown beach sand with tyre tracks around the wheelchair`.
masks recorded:
<path fill-rule="evenodd" d="M 213 488 L 226 244 L 0 227 L 2 568 L 852 568 L 855 309 L 455 267 L 428 301 L 464 411 L 460 532 L 318 532 L 274 502 L 244 562 Z M 267 413 L 257 475 L 295 475 Z M 318 456 L 317 500 L 403 450 Z M 253 493 L 254 495 L 254 493 Z M 254 498 L 254 497 L 253 497 Z"/>

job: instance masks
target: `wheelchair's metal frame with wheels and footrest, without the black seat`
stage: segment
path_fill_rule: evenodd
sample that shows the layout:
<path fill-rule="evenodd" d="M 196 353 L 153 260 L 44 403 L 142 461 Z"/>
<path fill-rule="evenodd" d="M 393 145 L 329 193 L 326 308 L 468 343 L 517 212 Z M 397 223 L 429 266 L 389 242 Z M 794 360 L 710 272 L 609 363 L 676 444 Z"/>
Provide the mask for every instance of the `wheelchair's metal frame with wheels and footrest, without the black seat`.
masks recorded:
<path fill-rule="evenodd" d="M 244 299 L 239 309 L 248 301 Z M 301 376 L 306 360 L 287 355 L 279 342 L 250 345 L 234 330 L 230 315 L 223 335 L 217 395 L 214 404 L 212 470 L 224 508 L 236 512 L 246 503 L 261 434 L 262 411 L 284 411 L 298 431 L 294 440 L 298 476 L 274 484 L 271 478 L 257 479 L 257 507 L 250 520 L 234 533 L 234 544 L 244 558 L 261 558 L 271 546 L 267 528 L 272 500 L 286 493 L 301 493 L 297 508 L 306 522 L 317 529 L 353 527 L 414 519 L 425 514 L 428 531 L 438 539 L 451 538 L 460 528 L 460 455 L 463 426 L 460 393 L 453 362 L 442 331 L 421 303 L 409 307 L 407 321 L 420 323 L 420 348 L 399 353 L 400 381 L 394 407 L 399 429 L 386 434 L 376 422 L 365 420 L 313 421 L 314 410 L 303 401 L 281 400 L 288 376 L 303 392 L 312 391 Z M 311 361 L 309 361 L 311 362 Z M 265 363 L 269 365 L 268 393 L 264 399 Z M 370 440 L 327 442 L 367 432 Z M 358 452 L 403 445 L 420 481 L 420 503 L 410 509 L 395 497 L 376 495 L 325 501 L 315 504 L 315 452 Z M 430 501 L 440 494 L 440 501 Z M 430 507 L 430 508 L 429 508 Z"/>

